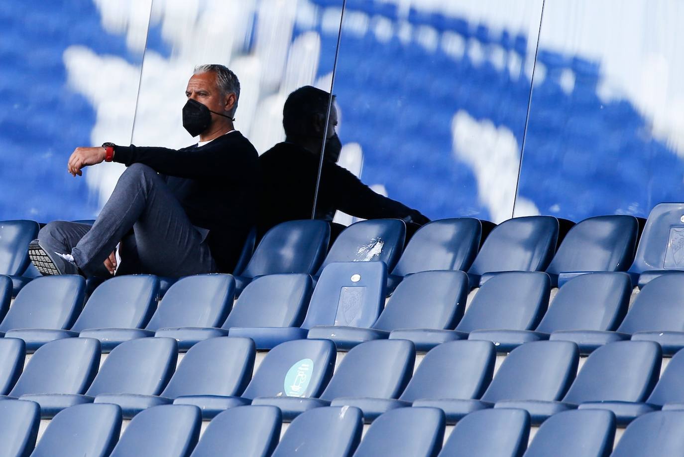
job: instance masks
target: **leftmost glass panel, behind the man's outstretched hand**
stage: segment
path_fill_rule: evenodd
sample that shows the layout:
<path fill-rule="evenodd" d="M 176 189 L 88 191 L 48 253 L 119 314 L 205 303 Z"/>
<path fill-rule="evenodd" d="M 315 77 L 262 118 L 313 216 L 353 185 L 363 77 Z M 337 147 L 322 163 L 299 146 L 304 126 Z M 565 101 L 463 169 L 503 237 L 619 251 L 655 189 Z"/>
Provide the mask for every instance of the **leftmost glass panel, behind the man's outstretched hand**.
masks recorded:
<path fill-rule="evenodd" d="M 74 178 L 66 164 L 131 140 L 150 2 L 0 2 L 0 219 L 97 214 L 108 167 Z"/>

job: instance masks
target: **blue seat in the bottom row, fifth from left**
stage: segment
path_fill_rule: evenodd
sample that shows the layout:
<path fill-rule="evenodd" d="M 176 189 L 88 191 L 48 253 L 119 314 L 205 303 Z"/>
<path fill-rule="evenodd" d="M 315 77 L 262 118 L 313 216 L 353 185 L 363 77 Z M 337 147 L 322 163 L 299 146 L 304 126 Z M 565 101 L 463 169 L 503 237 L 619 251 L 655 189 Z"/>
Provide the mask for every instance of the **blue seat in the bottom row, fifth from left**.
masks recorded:
<path fill-rule="evenodd" d="M 292 421 L 273 457 L 350 457 L 362 430 L 358 408 L 315 408 Z"/>

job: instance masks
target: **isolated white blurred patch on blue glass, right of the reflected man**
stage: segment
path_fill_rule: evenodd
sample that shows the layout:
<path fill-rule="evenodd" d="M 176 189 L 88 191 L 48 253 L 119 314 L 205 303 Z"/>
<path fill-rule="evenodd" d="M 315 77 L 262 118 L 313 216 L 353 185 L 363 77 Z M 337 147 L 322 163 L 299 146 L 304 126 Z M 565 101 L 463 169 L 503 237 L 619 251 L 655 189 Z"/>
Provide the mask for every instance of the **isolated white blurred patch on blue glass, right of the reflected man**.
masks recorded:
<path fill-rule="evenodd" d="M 515 189 L 520 166 L 520 147 L 513 132 L 491 121 L 476 121 L 463 110 L 451 121 L 453 154 L 471 166 L 477 178 L 477 195 L 492 221 L 510 219 L 513 206 L 525 215 L 539 214 L 534 203 L 518 197 Z"/>

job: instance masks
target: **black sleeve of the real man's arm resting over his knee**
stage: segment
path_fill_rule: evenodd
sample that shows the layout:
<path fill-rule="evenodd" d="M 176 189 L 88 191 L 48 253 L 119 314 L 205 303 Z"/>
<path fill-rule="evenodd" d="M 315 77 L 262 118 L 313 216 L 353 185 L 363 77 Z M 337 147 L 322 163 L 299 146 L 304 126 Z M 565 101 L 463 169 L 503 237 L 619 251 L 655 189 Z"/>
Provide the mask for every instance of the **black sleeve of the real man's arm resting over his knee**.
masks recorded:
<path fill-rule="evenodd" d="M 243 165 L 252 155 L 252 151 L 246 149 L 245 145 L 218 138 L 209 145 L 189 149 L 117 146 L 114 162 L 126 166 L 141 163 L 157 173 L 177 177 L 237 177 L 244 173 Z M 256 151 L 253 156 L 256 160 Z"/>

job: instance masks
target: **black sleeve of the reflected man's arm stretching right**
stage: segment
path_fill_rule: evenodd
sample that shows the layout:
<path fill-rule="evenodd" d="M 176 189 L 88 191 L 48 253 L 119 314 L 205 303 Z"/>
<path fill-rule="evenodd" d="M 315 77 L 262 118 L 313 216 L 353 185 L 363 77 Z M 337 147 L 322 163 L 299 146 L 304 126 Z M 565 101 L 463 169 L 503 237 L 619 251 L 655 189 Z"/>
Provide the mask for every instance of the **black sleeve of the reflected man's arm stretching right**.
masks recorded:
<path fill-rule="evenodd" d="M 341 166 L 326 168 L 327 176 L 321 177 L 321 190 L 339 210 L 363 219 L 396 218 L 421 225 L 430 222 L 418 210 L 374 192 Z"/>

